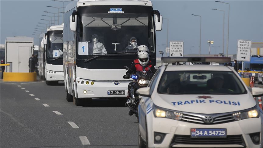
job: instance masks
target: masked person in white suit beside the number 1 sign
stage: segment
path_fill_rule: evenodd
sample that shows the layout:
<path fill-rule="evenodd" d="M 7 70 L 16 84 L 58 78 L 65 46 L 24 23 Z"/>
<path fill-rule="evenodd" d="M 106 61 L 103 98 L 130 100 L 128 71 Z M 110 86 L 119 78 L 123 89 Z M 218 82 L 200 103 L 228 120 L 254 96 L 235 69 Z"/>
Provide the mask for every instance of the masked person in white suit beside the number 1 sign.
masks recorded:
<path fill-rule="evenodd" d="M 89 55 L 91 54 L 107 54 L 107 51 L 102 43 L 99 42 L 99 36 L 97 34 L 93 34 L 91 36 L 92 41 L 88 44 Z M 104 55 L 103 54 L 103 55 Z"/>

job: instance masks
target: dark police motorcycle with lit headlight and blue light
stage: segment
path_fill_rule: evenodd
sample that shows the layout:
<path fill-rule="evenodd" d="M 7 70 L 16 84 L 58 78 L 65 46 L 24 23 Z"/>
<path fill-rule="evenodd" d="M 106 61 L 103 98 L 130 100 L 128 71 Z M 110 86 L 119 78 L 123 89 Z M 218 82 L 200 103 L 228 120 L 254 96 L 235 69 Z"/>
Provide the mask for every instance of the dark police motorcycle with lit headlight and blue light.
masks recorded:
<path fill-rule="evenodd" d="M 124 66 L 126 70 L 131 70 L 127 66 Z M 139 88 L 142 87 L 147 87 L 148 84 L 150 83 L 150 78 L 152 77 L 153 72 L 151 71 L 136 71 L 132 73 L 131 76 L 125 75 L 123 78 L 124 79 L 130 79 L 132 78 L 133 81 L 129 83 L 128 85 L 128 100 L 125 103 L 125 106 L 127 106 L 130 109 L 129 115 L 132 116 L 133 114 L 135 117 L 137 117 L 138 120 L 138 105 L 139 105 L 139 95 L 137 95 L 135 92 Z"/>

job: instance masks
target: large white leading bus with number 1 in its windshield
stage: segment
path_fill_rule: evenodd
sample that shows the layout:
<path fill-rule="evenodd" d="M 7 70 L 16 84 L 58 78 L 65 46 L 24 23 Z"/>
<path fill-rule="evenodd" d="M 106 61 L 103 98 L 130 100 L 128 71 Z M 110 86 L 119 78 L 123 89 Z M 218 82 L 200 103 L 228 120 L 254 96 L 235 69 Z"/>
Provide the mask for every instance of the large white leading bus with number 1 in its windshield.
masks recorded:
<path fill-rule="evenodd" d="M 67 101 L 79 106 L 84 98 L 126 99 L 128 84 L 123 79 L 137 58 L 128 50 L 130 38 L 150 50 L 156 65 L 155 30 L 162 29 L 162 16 L 150 1 L 73 1 L 65 8 L 63 65 Z M 98 36 L 97 46 L 92 35 Z M 101 52 L 106 49 L 107 53 Z M 101 50 L 101 51 L 100 51 Z"/>

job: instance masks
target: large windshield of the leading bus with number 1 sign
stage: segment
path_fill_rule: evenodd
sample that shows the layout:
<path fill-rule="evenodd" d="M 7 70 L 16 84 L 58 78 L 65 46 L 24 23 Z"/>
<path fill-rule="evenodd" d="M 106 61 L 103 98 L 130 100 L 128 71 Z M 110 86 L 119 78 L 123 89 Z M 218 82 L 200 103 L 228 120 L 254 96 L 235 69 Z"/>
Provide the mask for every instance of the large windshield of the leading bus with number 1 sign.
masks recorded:
<path fill-rule="evenodd" d="M 118 12 L 110 12 L 112 8 L 117 8 L 115 10 Z M 152 8 L 140 8 L 141 6 L 79 7 L 77 58 L 135 53 L 139 45 L 146 45 L 151 51 L 150 56 L 154 54 Z M 136 38 L 138 46 L 131 45 L 132 37 Z"/>

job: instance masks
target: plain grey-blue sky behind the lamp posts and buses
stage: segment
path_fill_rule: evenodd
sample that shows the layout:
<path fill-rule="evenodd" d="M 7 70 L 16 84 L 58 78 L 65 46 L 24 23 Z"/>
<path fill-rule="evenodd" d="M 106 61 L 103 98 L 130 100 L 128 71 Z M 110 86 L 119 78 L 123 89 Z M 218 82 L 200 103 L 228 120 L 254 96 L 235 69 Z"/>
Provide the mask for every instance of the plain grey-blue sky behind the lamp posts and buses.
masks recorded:
<path fill-rule="evenodd" d="M 184 54 L 199 53 L 200 17 L 202 16 L 201 53 L 208 54 L 208 40 L 214 41 L 211 54 L 223 52 L 223 12 L 225 10 L 225 53 L 227 42 L 228 5 L 214 1 L 157 1 L 153 0 L 153 9 L 169 19 L 168 41 L 184 41 Z M 263 1 L 222 1 L 230 3 L 229 54 L 236 54 L 237 40 L 263 42 Z M 69 2 L 65 2 L 67 5 Z M 41 15 L 53 16 L 43 11 L 58 12 L 58 9 L 46 6 L 62 7 L 56 1 L 0 1 L 0 43 L 6 37 L 33 37 L 40 19 L 50 19 Z M 62 9 L 61 9 L 62 11 Z M 167 44 L 167 19 L 163 19 L 163 30 L 156 32 L 157 51 L 165 51 Z M 62 23 L 62 17 L 60 18 Z M 57 25 L 57 21 L 56 21 Z M 43 25 L 42 25 L 43 26 Z M 37 34 L 37 33 L 35 33 Z M 36 36 L 34 36 L 36 37 Z M 38 43 L 35 38 L 34 42 Z M 170 43 L 170 42 L 169 42 Z M 169 47 L 168 43 L 168 47 Z M 159 54 L 158 54 L 159 56 Z"/>

